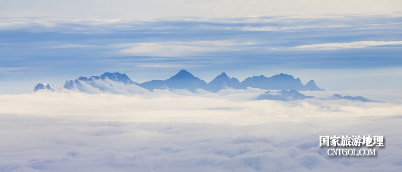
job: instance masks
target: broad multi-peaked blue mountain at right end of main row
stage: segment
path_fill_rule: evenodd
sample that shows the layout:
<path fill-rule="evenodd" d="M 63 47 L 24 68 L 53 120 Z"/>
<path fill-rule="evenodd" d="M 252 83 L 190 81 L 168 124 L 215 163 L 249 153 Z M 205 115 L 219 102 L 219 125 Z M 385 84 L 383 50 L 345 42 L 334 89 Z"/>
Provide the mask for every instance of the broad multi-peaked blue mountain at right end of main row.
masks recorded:
<path fill-rule="evenodd" d="M 302 84 L 302 81 L 300 81 L 299 78 L 294 78 L 291 75 L 283 73 L 269 78 L 265 77 L 264 75 L 249 77 L 242 82 L 242 85 L 243 87 L 253 87 L 267 90 L 323 90 L 317 87 L 314 80 L 309 81 L 309 83 L 307 83 L 305 86 Z"/>

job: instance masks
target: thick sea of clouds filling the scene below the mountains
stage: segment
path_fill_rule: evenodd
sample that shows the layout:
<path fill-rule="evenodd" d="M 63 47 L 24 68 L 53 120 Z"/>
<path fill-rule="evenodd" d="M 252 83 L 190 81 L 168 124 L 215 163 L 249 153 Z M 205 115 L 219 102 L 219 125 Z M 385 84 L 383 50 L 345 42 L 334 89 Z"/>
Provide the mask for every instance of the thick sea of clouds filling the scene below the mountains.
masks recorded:
<path fill-rule="evenodd" d="M 337 92 L 375 102 L 255 100 L 265 90 L 251 88 L 143 91 L 0 95 L 0 171 L 402 169 L 400 90 Z M 383 135 L 385 147 L 375 157 L 330 157 L 319 135 Z"/>

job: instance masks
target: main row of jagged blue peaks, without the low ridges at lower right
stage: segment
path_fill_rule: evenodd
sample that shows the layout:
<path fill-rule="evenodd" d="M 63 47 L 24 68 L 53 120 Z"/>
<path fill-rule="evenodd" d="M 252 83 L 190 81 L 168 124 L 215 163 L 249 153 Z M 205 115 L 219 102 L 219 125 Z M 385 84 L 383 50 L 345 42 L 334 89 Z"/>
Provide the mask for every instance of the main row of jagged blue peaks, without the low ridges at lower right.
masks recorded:
<path fill-rule="evenodd" d="M 108 84 L 105 84 L 107 82 Z M 320 91 L 324 90 L 319 88 L 314 80 L 310 80 L 306 85 L 303 85 L 299 78 L 294 78 L 287 74 L 278 74 L 272 77 L 265 77 L 263 75 L 253 76 L 246 78 L 240 82 L 236 78 L 230 78 L 225 72 L 218 75 L 211 82 L 207 83 L 202 79 L 193 76 L 186 70 L 180 70 L 176 75 L 166 80 L 152 80 L 144 83 L 136 83 L 132 81 L 126 74 L 118 72 L 106 72 L 100 76 L 79 77 L 75 80 L 66 81 L 63 88 L 69 90 L 83 90 L 87 86 L 91 86 L 105 91 L 110 88 L 114 83 L 124 85 L 136 85 L 145 88 L 149 91 L 154 89 L 186 89 L 195 92 L 196 89 L 204 89 L 211 92 L 218 92 L 219 90 L 232 88 L 232 89 L 246 89 L 247 87 L 271 90 L 311 90 Z M 35 86 L 34 91 L 48 89 L 54 90 L 51 85 L 39 83 Z"/>

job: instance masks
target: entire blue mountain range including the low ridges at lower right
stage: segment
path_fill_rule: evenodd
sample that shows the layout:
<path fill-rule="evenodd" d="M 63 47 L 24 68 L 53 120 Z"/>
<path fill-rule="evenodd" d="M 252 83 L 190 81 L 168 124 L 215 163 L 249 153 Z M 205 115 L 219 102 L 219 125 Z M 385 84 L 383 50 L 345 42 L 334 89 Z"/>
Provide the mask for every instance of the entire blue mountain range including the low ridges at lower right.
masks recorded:
<path fill-rule="evenodd" d="M 210 92 L 218 92 L 222 89 L 246 89 L 247 87 L 266 89 L 265 93 L 259 95 L 257 100 L 281 100 L 294 101 L 315 98 L 299 93 L 297 90 L 319 91 L 324 90 L 319 88 L 314 80 L 310 80 L 306 85 L 303 85 L 299 78 L 294 78 L 287 74 L 278 74 L 271 77 L 263 75 L 246 78 L 240 82 L 236 78 L 230 78 L 225 72 L 215 77 L 211 82 L 207 83 L 187 72 L 180 70 L 176 75 L 166 80 L 152 80 L 144 83 L 132 81 L 126 74 L 118 72 L 106 72 L 100 76 L 79 77 L 75 80 L 66 81 L 63 86 L 50 85 L 39 83 L 35 86 L 34 91 L 50 90 L 63 91 L 74 90 L 87 93 L 141 93 L 144 91 L 154 91 L 154 89 L 186 89 L 191 92 L 196 92 L 197 89 L 204 89 Z M 322 100 L 354 100 L 362 102 L 370 102 L 367 98 L 361 96 L 342 96 L 334 94 L 330 97 L 321 98 Z"/>

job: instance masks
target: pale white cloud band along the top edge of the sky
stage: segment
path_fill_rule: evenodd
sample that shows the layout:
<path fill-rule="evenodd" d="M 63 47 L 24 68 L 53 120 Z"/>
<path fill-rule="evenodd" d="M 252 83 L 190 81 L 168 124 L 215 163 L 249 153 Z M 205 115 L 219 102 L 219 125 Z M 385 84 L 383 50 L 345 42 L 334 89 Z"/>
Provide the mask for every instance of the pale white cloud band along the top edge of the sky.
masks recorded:
<path fill-rule="evenodd" d="M 248 17 L 303 16 L 323 14 L 394 14 L 401 11 L 398 0 L 351 1 L 22 1 L 0 2 L 2 16 L 47 16 L 83 18 L 164 18 L 176 16 Z M 73 11 L 71 9 L 74 9 Z"/>

